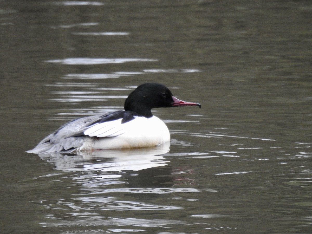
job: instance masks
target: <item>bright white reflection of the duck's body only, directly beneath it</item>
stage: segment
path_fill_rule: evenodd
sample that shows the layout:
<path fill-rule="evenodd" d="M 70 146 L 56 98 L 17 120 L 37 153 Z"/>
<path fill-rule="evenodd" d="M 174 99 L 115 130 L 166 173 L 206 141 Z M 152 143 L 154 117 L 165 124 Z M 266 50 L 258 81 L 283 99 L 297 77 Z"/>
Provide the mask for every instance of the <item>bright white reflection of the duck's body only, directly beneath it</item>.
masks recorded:
<path fill-rule="evenodd" d="M 138 171 L 167 165 L 162 154 L 169 151 L 170 143 L 153 148 L 80 151 L 76 154 L 39 154 L 39 157 L 53 163 L 58 170 L 121 172 Z M 94 163 L 94 161 L 97 161 Z"/>

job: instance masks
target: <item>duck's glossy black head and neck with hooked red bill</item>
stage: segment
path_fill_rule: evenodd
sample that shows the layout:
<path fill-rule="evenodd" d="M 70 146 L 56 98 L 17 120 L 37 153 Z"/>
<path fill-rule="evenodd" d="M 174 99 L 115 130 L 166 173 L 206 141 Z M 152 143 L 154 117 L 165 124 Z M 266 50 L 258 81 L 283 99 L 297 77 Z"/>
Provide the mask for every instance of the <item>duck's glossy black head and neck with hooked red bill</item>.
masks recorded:
<path fill-rule="evenodd" d="M 139 85 L 124 102 L 124 110 L 131 110 L 144 117 L 152 117 L 151 109 L 157 107 L 199 106 L 199 103 L 185 102 L 175 98 L 171 91 L 158 83 Z"/>

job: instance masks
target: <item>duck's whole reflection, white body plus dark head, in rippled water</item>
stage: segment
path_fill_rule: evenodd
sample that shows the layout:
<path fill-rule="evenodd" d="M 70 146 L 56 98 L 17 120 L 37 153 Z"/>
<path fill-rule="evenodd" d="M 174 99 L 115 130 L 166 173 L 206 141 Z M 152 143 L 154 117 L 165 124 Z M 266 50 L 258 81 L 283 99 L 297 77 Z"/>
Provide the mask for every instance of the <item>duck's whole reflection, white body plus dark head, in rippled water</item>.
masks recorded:
<path fill-rule="evenodd" d="M 141 188 L 145 191 L 143 193 L 149 194 L 150 189 L 147 188 L 170 188 L 181 183 L 190 184 L 194 180 L 190 177 L 191 168 L 169 165 L 171 159 L 166 157 L 169 147 L 170 142 L 166 142 L 150 148 L 86 150 L 71 154 L 52 152 L 39 154 L 39 157 L 52 163 L 57 170 L 86 172 L 73 177 L 76 182 L 85 184 L 85 189 L 101 188 L 108 181 L 112 184 L 127 182 L 126 187 Z M 124 191 L 123 188 L 117 190 Z M 153 193 L 170 191 L 153 189 Z"/>

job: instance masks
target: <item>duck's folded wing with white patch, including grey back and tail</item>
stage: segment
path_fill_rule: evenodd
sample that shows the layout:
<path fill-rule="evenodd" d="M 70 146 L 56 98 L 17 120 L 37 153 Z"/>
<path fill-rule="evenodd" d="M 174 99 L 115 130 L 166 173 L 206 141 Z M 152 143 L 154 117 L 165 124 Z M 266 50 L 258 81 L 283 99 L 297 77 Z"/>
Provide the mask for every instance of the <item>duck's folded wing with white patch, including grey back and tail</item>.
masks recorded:
<path fill-rule="evenodd" d="M 86 137 L 115 137 L 124 134 L 137 117 L 132 111 L 115 111 L 105 115 L 93 115 L 75 119 L 64 124 L 43 139 L 29 153 L 59 152 L 71 153 L 79 149 Z"/>

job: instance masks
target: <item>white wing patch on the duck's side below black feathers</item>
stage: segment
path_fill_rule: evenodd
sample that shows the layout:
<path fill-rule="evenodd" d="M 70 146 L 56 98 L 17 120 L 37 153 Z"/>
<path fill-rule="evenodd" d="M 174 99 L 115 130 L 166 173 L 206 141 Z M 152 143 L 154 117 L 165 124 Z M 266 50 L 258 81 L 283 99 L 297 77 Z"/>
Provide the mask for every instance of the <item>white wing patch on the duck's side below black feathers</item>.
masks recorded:
<path fill-rule="evenodd" d="M 113 121 L 107 121 L 100 124 L 94 124 L 84 130 L 84 134 L 90 137 L 115 137 L 129 130 L 135 128 L 137 123 L 137 118 L 144 118 L 144 117 L 135 117 L 133 120 L 126 122 L 124 124 L 121 123 L 122 119 L 116 119 Z"/>

